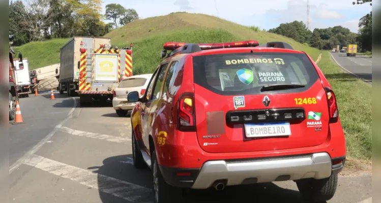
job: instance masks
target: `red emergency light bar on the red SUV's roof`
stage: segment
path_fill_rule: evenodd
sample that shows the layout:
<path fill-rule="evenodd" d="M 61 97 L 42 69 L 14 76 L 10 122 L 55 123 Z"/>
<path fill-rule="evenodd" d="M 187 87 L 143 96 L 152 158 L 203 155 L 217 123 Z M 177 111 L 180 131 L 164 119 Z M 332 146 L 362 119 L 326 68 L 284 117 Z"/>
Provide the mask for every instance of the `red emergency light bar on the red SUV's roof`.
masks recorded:
<path fill-rule="evenodd" d="M 182 47 L 188 43 L 180 42 L 167 42 L 164 44 L 163 48 L 165 50 L 173 51 L 179 47 Z M 259 43 L 254 40 L 241 41 L 241 42 L 227 42 L 227 43 L 200 43 L 198 44 L 201 50 L 208 49 L 221 49 L 221 48 L 236 48 L 236 47 L 256 47 Z"/>

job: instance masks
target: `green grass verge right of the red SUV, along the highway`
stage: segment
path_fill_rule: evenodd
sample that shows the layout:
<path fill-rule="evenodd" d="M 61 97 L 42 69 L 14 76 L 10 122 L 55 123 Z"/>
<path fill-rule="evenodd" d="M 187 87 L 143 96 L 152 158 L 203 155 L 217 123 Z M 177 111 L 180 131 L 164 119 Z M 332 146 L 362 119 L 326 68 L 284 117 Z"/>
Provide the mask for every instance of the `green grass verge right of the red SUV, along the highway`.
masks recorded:
<path fill-rule="evenodd" d="M 344 73 L 330 54 L 324 52 L 319 67 L 331 84 L 339 107 L 347 153 L 353 158 L 372 157 L 371 85 Z"/>

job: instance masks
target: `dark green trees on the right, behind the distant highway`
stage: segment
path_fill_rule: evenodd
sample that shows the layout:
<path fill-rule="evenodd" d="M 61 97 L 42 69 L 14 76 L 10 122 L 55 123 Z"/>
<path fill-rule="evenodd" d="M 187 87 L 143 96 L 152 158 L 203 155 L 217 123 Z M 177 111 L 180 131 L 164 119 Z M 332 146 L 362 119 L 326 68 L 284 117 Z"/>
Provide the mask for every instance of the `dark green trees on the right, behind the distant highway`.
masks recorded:
<path fill-rule="evenodd" d="M 353 4 L 370 3 L 371 0 L 357 0 Z M 361 51 L 372 51 L 372 12 L 360 19 L 359 32 L 351 32 L 348 28 L 334 26 L 328 28 L 315 28 L 309 30 L 303 21 L 282 23 L 278 27 L 269 29 L 268 32 L 277 33 L 297 42 L 318 49 L 333 49 L 336 45 L 341 47 L 357 44 Z"/>

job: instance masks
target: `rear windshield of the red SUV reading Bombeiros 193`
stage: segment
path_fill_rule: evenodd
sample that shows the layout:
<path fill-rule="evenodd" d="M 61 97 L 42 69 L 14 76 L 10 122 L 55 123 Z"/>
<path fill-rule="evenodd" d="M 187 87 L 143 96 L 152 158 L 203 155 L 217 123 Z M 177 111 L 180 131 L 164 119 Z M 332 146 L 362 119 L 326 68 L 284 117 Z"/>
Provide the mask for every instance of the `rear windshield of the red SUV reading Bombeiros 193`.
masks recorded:
<path fill-rule="evenodd" d="M 232 53 L 193 57 L 194 82 L 222 95 L 301 92 L 318 75 L 305 54 Z M 297 84 L 303 88 L 261 92 L 263 85 Z"/>

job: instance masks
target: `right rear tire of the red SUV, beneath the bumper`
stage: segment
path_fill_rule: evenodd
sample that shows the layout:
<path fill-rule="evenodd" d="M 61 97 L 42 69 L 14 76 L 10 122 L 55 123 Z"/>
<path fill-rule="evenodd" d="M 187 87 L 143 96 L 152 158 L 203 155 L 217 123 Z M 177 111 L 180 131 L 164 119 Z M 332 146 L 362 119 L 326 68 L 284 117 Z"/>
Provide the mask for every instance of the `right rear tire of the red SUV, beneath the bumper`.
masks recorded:
<path fill-rule="evenodd" d="M 331 175 L 325 179 L 298 180 L 297 186 L 303 198 L 309 201 L 328 201 L 335 195 L 338 175 Z"/>

